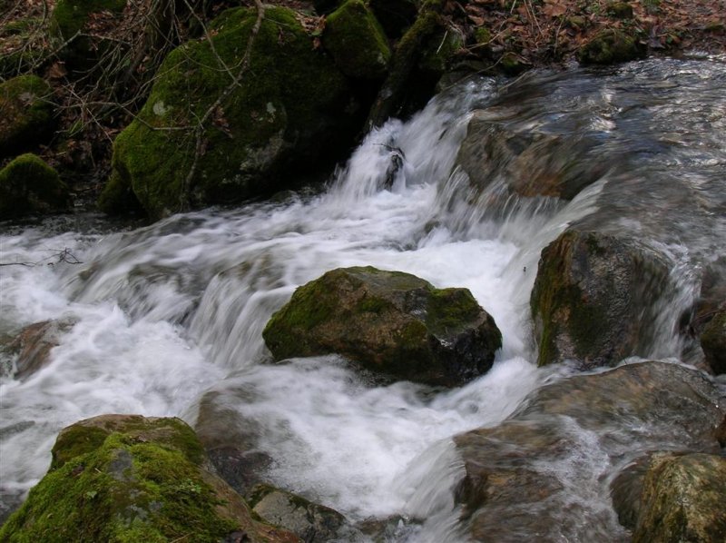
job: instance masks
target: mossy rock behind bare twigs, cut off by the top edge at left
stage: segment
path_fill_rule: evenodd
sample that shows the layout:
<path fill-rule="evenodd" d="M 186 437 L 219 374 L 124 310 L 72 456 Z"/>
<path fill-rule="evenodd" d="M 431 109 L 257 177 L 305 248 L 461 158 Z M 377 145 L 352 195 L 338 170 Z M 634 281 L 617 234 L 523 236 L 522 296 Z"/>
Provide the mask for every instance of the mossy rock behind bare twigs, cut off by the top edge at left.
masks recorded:
<path fill-rule="evenodd" d="M 93 16 L 104 28 L 121 21 L 126 0 L 58 0 L 50 20 L 50 34 L 57 45 L 64 45 L 61 55 L 70 68 L 87 70 L 103 56 L 113 43 L 98 30 L 89 31 Z M 91 36 L 93 34 L 93 37 Z"/>

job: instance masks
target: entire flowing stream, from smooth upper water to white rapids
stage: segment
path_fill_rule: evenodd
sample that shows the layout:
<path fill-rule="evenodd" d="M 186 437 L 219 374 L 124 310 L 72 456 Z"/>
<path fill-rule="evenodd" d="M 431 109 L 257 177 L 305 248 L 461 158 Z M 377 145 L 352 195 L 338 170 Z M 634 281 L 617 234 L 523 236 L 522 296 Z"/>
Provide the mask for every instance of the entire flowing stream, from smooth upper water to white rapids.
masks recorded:
<path fill-rule="evenodd" d="M 475 110 L 506 130 L 563 138 L 560 152 L 585 140 L 578 160 L 607 167 L 571 202 L 489 208 L 455 168 Z M 724 134 L 723 59 L 476 79 L 368 134 L 324 191 L 137 229 L 85 216 L 6 225 L 2 262 L 35 265 L 0 268 L 0 335 L 37 321 L 75 324 L 25 380 L 11 357 L 0 360 L 0 508 L 43 477 L 64 426 L 102 413 L 194 425 L 214 392 L 263 429 L 274 484 L 353 520 L 400 517 L 392 541 L 460 540 L 451 489 L 463 466 L 451 437 L 495 426 L 532 390 L 566 378 L 533 364 L 528 301 L 539 252 L 574 223 L 635 232 L 662 252 L 672 289 L 653 301 L 660 335 L 642 354 L 680 358 L 675 324 L 699 271 L 726 253 Z M 81 263 L 58 262 L 63 251 Z M 494 368 L 442 391 L 371 380 L 332 356 L 271 364 L 261 330 L 272 312 L 300 284 L 353 265 L 470 289 L 503 333 Z M 586 469 L 562 471 L 576 487 Z M 593 510 L 610 508 L 599 499 Z M 427 522 L 411 528 L 407 518 Z"/>

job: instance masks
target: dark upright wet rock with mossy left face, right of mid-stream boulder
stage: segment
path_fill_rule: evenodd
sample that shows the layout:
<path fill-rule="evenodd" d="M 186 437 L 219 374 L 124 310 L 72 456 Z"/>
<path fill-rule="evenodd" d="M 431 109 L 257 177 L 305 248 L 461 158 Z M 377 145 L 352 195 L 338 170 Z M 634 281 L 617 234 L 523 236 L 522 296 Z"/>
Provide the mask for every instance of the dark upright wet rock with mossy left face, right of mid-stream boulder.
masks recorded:
<path fill-rule="evenodd" d="M 544 248 L 530 299 L 540 366 L 581 370 L 647 355 L 665 262 L 637 242 L 568 230 Z"/>

